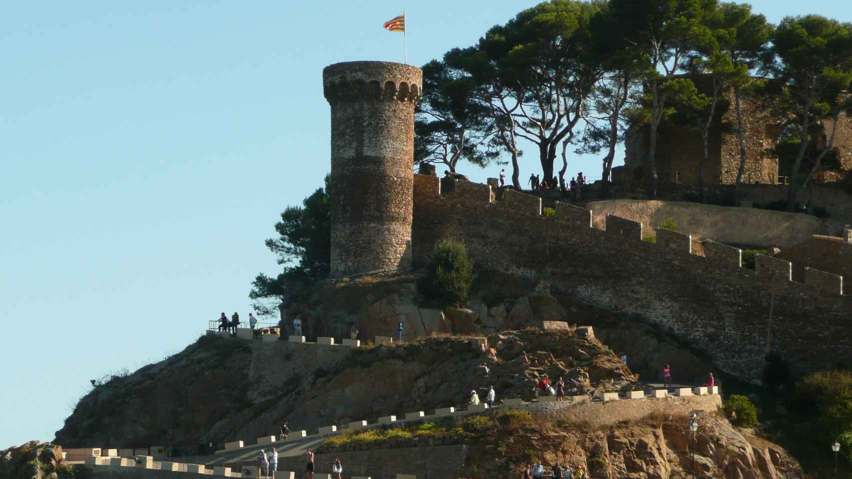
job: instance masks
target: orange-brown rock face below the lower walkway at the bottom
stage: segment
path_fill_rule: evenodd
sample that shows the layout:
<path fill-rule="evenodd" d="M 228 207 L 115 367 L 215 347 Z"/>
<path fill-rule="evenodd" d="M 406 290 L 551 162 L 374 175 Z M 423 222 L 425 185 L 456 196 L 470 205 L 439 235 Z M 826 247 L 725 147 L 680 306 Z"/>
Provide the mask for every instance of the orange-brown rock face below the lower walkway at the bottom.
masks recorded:
<path fill-rule="evenodd" d="M 798 479 L 801 467 L 779 446 L 739 430 L 715 413 L 700 413 L 695 437 L 697 477 L 726 479 Z M 444 423 L 410 425 L 405 430 L 361 431 L 326 441 L 322 457 L 343 456 L 357 460 L 352 451 L 430 447 L 464 444 L 464 477 L 485 479 L 517 476 L 539 460 L 553 465 L 583 467 L 597 479 L 675 479 L 691 476 L 692 433 L 689 417 L 649 415 L 629 423 L 595 429 L 577 422 L 555 419 L 548 413 L 500 411 Z M 355 453 L 357 454 L 357 453 Z M 392 457 L 393 453 L 380 454 Z M 430 472 L 452 474 L 440 465 L 408 464 L 418 476 Z M 440 474 L 439 474 L 440 475 Z M 433 475 L 435 476 L 435 475 Z"/>

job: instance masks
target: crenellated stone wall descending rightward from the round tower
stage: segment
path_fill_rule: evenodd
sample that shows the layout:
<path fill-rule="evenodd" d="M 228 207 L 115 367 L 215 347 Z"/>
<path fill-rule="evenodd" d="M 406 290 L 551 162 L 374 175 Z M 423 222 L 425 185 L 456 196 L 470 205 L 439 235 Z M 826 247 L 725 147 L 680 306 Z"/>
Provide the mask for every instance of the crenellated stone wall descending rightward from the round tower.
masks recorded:
<path fill-rule="evenodd" d="M 770 324 L 772 349 L 784 351 L 795 372 L 852 360 L 852 334 L 845 328 L 852 299 L 826 296 L 826 275 L 812 272 L 810 280 L 793 282 L 783 274 L 790 264 L 780 259 L 757 259 L 751 271 L 741 266 L 738 248 L 708 241 L 706 257 L 699 256 L 673 231 L 663 232 L 659 244 L 643 242 L 642 225 L 617 216 L 608 216 L 607 230 L 600 230 L 586 222 L 588 209 L 557 203 L 556 216 L 545 217 L 538 197 L 506 190 L 504 200 L 491 202 L 488 185 L 441 194 L 438 183 L 414 175 L 415 265 L 424 264 L 441 238 L 463 238 L 481 269 L 550 281 L 576 299 L 640 316 L 746 379 L 761 377 Z M 481 195 L 464 192 L 477 189 Z M 803 347 L 814 344 L 832 354 Z"/>

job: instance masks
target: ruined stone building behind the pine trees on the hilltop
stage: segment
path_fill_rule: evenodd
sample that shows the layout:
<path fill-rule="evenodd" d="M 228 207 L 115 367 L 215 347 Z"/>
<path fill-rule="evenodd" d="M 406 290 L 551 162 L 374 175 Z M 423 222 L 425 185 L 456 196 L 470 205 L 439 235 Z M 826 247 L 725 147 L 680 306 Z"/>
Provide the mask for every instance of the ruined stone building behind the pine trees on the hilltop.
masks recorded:
<path fill-rule="evenodd" d="M 707 90 L 693 77 L 699 91 Z M 734 108 L 734 91 L 728 89 L 725 100 L 720 102 L 716 128 L 711 128 L 709 139 L 710 161 L 705 164 L 706 185 L 730 185 L 736 181 L 740 168 L 740 142 L 737 138 L 737 117 Z M 779 181 L 778 158 L 769 153 L 774 139 L 780 133 L 784 120 L 774 117 L 757 105 L 755 101 L 742 99 L 743 126 L 746 130 L 746 169 L 743 183 L 774 184 Z M 834 138 L 834 150 L 838 153 L 841 171 L 820 172 L 817 182 L 841 179 L 843 171 L 852 170 L 852 119 L 841 117 Z M 831 132 L 832 121 L 823 122 L 826 133 Z M 645 168 L 648 159 L 648 125 L 628 129 L 625 139 L 625 166 L 613 171 L 613 181 L 637 182 L 646 180 Z M 820 147 L 825 145 L 826 135 L 817 139 Z M 657 174 L 662 183 L 698 184 L 699 160 L 704 147 L 701 134 L 696 128 L 686 128 L 664 120 L 659 125 L 657 137 Z M 615 168 L 613 168 L 614 170 Z M 783 172 L 782 172 L 783 174 Z"/>

